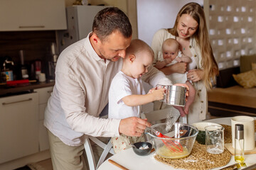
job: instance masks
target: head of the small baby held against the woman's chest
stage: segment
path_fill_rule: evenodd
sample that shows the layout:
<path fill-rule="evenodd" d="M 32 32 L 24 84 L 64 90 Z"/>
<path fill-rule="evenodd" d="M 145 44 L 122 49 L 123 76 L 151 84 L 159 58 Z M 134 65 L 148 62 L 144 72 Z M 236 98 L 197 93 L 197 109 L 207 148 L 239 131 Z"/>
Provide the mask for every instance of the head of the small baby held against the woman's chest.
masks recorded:
<path fill-rule="evenodd" d="M 162 52 L 164 59 L 171 58 L 171 60 L 174 60 L 178 55 L 178 41 L 174 38 L 164 40 Z"/>

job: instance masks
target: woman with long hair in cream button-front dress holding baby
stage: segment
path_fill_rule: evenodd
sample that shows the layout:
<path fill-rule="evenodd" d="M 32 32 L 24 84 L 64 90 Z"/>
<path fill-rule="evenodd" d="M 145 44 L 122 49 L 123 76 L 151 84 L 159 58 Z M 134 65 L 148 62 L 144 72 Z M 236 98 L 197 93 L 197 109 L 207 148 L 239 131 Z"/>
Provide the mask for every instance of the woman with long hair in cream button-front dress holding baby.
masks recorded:
<path fill-rule="evenodd" d="M 154 50 L 154 62 L 161 51 L 161 45 L 167 38 L 174 38 L 180 44 L 184 55 L 191 57 L 191 63 L 179 62 L 160 69 L 164 74 L 184 73 L 189 67 L 188 79 L 196 89 L 196 98 L 188 113 L 188 123 L 196 123 L 206 119 L 208 112 L 207 90 L 212 87 L 212 81 L 218 74 L 213 50 L 208 40 L 206 17 L 203 8 L 194 2 L 181 8 L 176 17 L 174 28 L 158 30 L 151 47 Z"/>

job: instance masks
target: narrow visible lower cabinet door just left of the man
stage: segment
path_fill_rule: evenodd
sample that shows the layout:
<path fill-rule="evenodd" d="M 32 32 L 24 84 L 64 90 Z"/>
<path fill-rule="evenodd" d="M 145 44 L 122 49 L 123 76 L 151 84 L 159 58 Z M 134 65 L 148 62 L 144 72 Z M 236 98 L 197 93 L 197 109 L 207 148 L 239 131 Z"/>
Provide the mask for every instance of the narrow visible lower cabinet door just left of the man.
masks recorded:
<path fill-rule="evenodd" d="M 39 150 L 43 151 L 50 148 L 48 142 L 48 133 L 46 127 L 43 125 L 44 112 L 46 110 L 48 98 L 50 97 L 51 92 L 53 91 L 53 86 L 45 87 L 41 89 L 35 89 L 35 92 L 38 93 L 39 98 Z"/>

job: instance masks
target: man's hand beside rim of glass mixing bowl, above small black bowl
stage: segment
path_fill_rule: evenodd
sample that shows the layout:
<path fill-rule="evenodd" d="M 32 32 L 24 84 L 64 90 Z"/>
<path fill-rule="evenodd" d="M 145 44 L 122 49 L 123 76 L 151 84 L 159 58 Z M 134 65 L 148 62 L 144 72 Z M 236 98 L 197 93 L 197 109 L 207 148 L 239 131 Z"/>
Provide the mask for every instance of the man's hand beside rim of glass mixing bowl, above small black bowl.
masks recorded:
<path fill-rule="evenodd" d="M 127 136 L 141 136 L 146 127 L 150 127 L 151 123 L 137 117 L 125 118 L 120 121 L 119 133 Z"/>

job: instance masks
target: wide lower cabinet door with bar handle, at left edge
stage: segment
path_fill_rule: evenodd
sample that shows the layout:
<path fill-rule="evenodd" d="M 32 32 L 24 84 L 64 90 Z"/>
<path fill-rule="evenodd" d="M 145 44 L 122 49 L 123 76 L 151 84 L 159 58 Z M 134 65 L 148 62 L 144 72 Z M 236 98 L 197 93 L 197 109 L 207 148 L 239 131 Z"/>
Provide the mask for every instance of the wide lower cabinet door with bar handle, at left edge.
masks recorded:
<path fill-rule="evenodd" d="M 38 149 L 38 94 L 0 98 L 0 163 Z"/>

